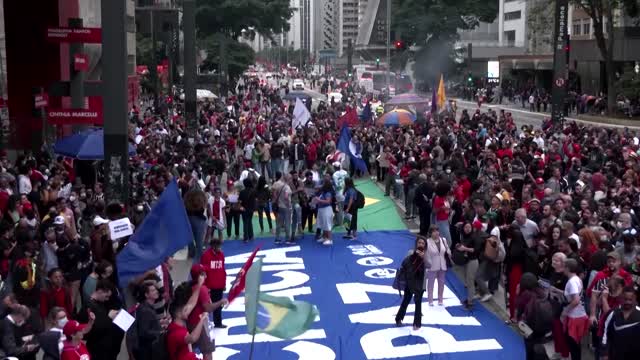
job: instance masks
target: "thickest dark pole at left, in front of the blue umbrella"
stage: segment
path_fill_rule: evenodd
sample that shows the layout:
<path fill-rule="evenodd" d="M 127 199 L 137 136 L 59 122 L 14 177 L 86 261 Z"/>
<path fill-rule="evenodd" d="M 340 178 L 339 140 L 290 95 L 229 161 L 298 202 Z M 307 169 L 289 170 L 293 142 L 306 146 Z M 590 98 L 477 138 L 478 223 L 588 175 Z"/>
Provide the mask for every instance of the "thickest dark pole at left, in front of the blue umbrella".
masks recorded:
<path fill-rule="evenodd" d="M 107 203 L 129 200 L 129 120 L 127 119 L 127 0 L 103 0 L 102 86 L 104 172 Z"/>

